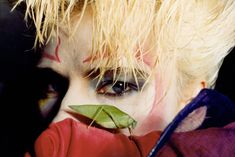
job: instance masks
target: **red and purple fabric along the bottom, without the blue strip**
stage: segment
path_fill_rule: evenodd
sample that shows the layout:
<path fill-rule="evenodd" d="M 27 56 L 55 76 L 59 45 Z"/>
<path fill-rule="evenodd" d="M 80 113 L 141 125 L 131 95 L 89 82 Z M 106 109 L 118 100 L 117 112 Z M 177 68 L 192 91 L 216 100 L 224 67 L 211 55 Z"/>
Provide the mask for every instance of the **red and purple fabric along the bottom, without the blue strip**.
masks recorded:
<path fill-rule="evenodd" d="M 36 157 L 141 157 L 147 156 L 160 132 L 127 137 L 66 119 L 51 124 L 36 141 Z M 174 133 L 158 157 L 235 156 L 235 123 Z M 219 149 L 218 149 L 219 148 Z"/>

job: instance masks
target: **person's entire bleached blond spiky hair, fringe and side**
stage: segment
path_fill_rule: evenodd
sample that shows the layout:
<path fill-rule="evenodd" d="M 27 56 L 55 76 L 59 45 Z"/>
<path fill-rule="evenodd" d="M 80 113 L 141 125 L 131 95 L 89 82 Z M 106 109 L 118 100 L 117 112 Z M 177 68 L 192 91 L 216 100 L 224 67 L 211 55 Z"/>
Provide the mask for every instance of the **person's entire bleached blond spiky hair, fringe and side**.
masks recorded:
<path fill-rule="evenodd" d="M 176 85 L 178 100 L 187 97 L 185 89 L 198 80 L 213 87 L 223 58 L 235 45 L 234 0 L 19 0 L 17 4 L 22 1 L 26 17 L 36 25 L 36 41 L 42 44 L 58 35 L 59 26 L 67 26 L 72 36 L 91 8 L 92 53 L 103 60 L 97 67 L 117 69 L 125 62 L 129 69 L 143 68 L 136 54 L 151 52 L 159 61 L 158 74 L 172 73 L 169 86 Z M 73 17 L 79 20 L 74 22 Z M 148 49 L 143 50 L 146 43 Z"/>

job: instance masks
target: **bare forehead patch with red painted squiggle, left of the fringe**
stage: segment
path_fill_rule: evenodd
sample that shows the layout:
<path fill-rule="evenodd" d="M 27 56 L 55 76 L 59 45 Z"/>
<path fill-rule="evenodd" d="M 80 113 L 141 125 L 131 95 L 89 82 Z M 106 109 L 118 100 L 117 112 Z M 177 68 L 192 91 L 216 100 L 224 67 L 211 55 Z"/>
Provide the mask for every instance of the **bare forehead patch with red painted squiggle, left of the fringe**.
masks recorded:
<path fill-rule="evenodd" d="M 39 67 L 49 67 L 55 71 L 69 75 L 68 71 L 86 69 L 83 63 L 92 50 L 92 23 L 89 16 L 85 16 L 77 31 L 70 38 L 67 29 L 59 28 L 58 37 L 53 37 L 42 51 Z"/>

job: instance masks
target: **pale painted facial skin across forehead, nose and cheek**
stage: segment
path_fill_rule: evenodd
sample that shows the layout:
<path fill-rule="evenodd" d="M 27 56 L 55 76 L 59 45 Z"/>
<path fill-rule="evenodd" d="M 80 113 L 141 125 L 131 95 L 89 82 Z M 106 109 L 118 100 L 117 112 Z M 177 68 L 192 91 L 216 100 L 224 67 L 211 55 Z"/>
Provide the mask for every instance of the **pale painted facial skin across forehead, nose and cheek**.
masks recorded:
<path fill-rule="evenodd" d="M 164 77 L 159 77 L 156 73 L 142 91 L 128 87 L 129 90 L 122 95 L 110 96 L 102 92 L 115 94 L 111 84 L 97 91 L 97 82 L 86 77 L 87 72 L 91 70 L 89 69 L 89 56 L 92 49 L 91 26 L 90 15 L 85 15 L 74 35 L 75 40 L 69 40 L 63 28 L 60 28 L 59 45 L 58 40 L 54 38 L 44 49 L 44 55 L 38 67 L 51 68 L 69 80 L 69 88 L 53 122 L 65 118 L 75 119 L 67 112 L 70 110 L 69 105 L 112 104 L 137 121 L 132 134 L 144 135 L 153 130 L 163 130 L 182 108 L 182 106 L 173 105 L 176 102 L 171 89 L 166 95 L 167 98 L 162 99 L 165 96 L 163 89 L 167 87 L 167 79 L 163 80 Z M 151 68 L 151 62 L 153 62 L 151 57 L 146 57 L 145 63 L 148 68 Z M 201 89 L 201 84 L 198 87 Z M 129 134 L 127 130 L 121 130 L 121 132 Z"/>

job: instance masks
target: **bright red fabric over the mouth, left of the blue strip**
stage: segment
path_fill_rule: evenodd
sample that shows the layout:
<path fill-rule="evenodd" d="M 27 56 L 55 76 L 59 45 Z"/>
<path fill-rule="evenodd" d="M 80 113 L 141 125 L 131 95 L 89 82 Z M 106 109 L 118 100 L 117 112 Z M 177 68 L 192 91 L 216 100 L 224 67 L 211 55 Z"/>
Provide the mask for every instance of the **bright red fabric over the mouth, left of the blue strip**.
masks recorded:
<path fill-rule="evenodd" d="M 65 119 L 41 134 L 35 151 L 37 157 L 141 157 L 148 154 L 159 135 L 127 137 Z"/>

